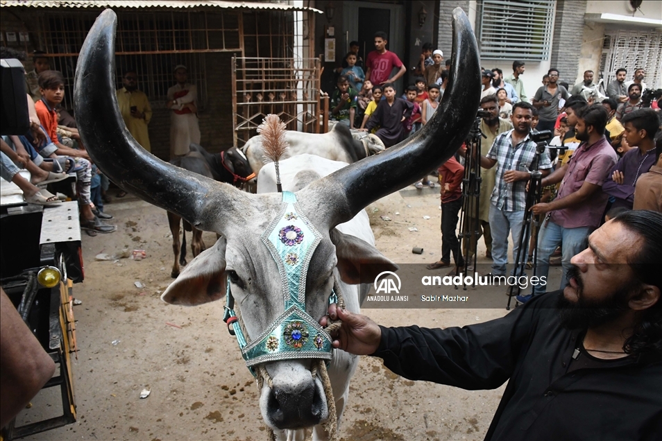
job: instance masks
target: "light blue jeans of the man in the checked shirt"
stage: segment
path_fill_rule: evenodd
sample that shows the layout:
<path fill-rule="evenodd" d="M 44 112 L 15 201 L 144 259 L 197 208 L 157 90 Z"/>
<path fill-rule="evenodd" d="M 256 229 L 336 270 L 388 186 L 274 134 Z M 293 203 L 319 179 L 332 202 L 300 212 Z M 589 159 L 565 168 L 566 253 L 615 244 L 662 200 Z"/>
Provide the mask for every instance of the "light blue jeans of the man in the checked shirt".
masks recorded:
<path fill-rule="evenodd" d="M 508 233 L 513 237 L 513 261 L 520 248 L 520 233 L 524 222 L 524 211 L 504 211 L 490 204 L 490 230 L 492 233 L 492 274 L 506 275 L 508 264 Z M 520 260 L 526 259 L 526 253 Z"/>

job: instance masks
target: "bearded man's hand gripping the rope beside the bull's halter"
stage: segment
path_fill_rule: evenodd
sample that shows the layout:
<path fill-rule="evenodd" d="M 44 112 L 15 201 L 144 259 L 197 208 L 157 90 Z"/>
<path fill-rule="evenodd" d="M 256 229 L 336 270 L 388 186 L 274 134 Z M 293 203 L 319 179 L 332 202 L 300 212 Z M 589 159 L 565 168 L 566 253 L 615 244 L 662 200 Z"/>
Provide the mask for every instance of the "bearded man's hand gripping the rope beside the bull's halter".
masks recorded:
<path fill-rule="evenodd" d="M 365 315 L 350 313 L 332 304 L 329 306 L 328 316 L 342 321 L 340 329 L 331 335 L 333 347 L 355 355 L 373 354 L 379 347 L 382 330 Z M 327 326 L 328 317 L 325 315 L 319 322 L 322 327 Z"/>

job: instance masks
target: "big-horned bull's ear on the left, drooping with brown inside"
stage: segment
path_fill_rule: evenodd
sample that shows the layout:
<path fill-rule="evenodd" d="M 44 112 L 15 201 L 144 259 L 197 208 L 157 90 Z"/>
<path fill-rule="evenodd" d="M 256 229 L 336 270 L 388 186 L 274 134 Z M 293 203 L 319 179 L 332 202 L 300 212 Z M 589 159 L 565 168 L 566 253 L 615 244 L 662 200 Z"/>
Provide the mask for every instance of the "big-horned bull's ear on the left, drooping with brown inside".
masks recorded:
<path fill-rule="evenodd" d="M 161 295 L 171 304 L 196 306 L 219 300 L 226 293 L 226 238 L 193 259 Z"/>

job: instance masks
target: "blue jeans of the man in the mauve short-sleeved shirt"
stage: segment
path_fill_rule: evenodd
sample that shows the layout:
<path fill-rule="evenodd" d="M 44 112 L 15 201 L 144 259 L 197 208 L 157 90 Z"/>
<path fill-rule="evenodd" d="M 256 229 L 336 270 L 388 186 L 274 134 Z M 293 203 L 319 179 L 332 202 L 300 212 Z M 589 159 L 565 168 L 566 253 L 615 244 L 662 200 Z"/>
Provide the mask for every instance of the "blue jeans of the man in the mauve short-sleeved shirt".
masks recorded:
<path fill-rule="evenodd" d="M 576 254 L 586 250 L 586 236 L 594 229 L 592 227 L 563 228 L 561 225 L 543 221 L 538 233 L 538 259 L 536 276 L 548 279 L 550 273 L 550 257 L 561 243 L 561 264 L 563 265 L 563 277 L 561 277 L 560 289 L 568 285 L 568 270 L 572 267 L 570 259 Z M 543 294 L 547 291 L 547 285 L 536 285 L 534 295 Z"/>

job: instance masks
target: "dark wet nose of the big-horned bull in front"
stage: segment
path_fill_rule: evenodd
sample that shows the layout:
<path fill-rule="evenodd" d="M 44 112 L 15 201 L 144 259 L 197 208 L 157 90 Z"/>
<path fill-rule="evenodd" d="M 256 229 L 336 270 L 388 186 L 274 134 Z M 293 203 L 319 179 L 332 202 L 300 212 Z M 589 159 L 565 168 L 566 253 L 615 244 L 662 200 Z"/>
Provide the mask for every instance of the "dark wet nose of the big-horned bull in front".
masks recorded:
<path fill-rule="evenodd" d="M 305 384 L 273 385 L 267 413 L 278 429 L 300 429 L 319 424 L 325 402 L 312 378 Z"/>

